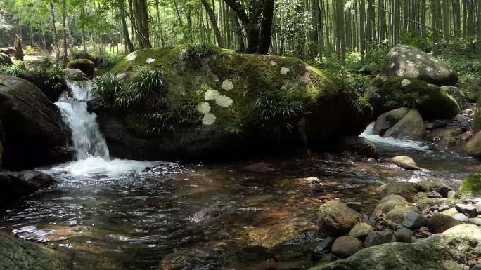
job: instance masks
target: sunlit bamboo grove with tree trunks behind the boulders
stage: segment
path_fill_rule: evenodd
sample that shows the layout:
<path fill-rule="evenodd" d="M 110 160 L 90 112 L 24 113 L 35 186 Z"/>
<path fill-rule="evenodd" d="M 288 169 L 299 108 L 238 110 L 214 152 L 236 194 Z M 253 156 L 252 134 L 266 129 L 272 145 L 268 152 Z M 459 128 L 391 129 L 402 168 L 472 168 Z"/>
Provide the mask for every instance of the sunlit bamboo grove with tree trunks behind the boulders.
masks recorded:
<path fill-rule="evenodd" d="M 15 39 L 57 55 L 203 42 L 345 62 L 396 43 L 481 50 L 481 0 L 1 0 L 0 46 Z"/>

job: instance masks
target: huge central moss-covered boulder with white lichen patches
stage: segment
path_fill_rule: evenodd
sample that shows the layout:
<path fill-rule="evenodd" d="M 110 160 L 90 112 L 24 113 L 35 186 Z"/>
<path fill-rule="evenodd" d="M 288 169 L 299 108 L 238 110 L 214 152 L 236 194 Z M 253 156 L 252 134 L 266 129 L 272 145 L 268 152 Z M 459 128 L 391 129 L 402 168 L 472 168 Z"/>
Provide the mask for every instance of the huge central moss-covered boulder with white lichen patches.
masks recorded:
<path fill-rule="evenodd" d="M 139 66 L 163 72 L 169 102 L 154 110 L 168 123 L 155 126 L 145 104 L 96 110 L 114 156 L 205 159 L 322 147 L 330 137 L 359 135 L 372 115 L 363 98 L 296 58 L 193 44 L 138 50 L 112 72 L 128 86 Z"/>

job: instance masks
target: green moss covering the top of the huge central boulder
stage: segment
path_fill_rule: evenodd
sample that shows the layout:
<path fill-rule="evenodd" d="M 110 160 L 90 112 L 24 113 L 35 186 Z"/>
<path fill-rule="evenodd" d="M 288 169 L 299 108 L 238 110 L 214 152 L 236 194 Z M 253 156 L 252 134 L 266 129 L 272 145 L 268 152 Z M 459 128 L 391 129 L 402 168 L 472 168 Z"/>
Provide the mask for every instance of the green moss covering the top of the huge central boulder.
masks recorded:
<path fill-rule="evenodd" d="M 273 112 L 267 112 L 273 114 L 267 121 L 269 125 L 272 122 L 274 126 L 282 126 L 316 109 L 320 98 L 339 95 L 335 79 L 297 58 L 240 54 L 209 44 L 138 50 L 135 55 L 134 60 L 122 60 L 111 72 L 126 72 L 124 81 L 128 84 L 134 76 L 134 67 L 164 70 L 162 81 L 166 84 L 169 102 L 167 107 L 158 108 L 158 111 L 162 110 L 162 114 L 169 116 L 173 125 L 202 125 L 203 114 L 197 112 L 195 106 L 199 102 L 208 102 L 210 113 L 216 117 L 212 127 L 219 133 L 242 132 L 259 122 L 259 116 L 267 108 L 274 108 Z M 148 64 L 148 58 L 155 61 Z M 233 84 L 233 88 L 222 88 L 226 80 Z M 231 98 L 232 104 L 221 107 L 215 100 L 204 100 L 206 91 L 210 89 Z M 371 109 L 356 93 L 346 90 L 345 95 L 353 104 Z M 259 100 L 267 100 L 273 106 L 262 107 Z M 132 114 L 141 115 L 142 109 L 136 108 Z M 127 125 L 141 133 L 154 128 L 137 126 L 133 122 L 127 121 Z"/>

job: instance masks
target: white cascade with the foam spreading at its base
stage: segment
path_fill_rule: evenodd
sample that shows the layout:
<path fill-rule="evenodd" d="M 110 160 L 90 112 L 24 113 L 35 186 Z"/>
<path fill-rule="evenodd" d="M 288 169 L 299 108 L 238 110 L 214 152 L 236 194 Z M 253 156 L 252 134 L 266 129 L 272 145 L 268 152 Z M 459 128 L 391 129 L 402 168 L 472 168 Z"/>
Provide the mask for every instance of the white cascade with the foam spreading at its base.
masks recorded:
<path fill-rule="evenodd" d="M 139 174 L 146 168 L 162 167 L 167 164 L 162 161 L 111 160 L 105 137 L 98 128 L 96 114 L 87 110 L 92 83 L 90 81 L 69 81 L 68 87 L 71 93 L 63 93 L 56 105 L 60 108 L 63 121 L 72 130 L 72 142 L 77 152 L 77 161 L 60 164 L 46 170 L 46 173 L 65 177 L 110 178 Z"/>

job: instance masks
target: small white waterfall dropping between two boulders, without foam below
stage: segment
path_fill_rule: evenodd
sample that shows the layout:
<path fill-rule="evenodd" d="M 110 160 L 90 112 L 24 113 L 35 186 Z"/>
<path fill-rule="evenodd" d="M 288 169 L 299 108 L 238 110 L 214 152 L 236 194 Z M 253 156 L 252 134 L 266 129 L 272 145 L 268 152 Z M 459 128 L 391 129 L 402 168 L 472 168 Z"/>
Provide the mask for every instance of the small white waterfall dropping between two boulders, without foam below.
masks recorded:
<path fill-rule="evenodd" d="M 107 143 L 98 128 L 96 114 L 87 111 L 92 83 L 90 81 L 68 81 L 71 93 L 64 92 L 55 104 L 60 108 L 63 121 L 72 130 L 72 141 L 77 159 L 89 157 L 110 159 Z"/>

